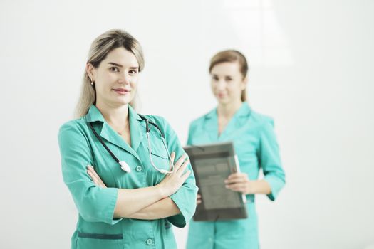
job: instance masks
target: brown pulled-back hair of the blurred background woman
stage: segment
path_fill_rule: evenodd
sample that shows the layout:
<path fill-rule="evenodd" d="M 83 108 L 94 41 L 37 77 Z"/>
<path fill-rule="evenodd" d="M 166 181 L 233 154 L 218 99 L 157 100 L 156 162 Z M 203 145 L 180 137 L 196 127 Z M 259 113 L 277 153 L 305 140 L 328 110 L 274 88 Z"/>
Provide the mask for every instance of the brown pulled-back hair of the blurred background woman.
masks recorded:
<path fill-rule="evenodd" d="M 245 56 L 236 50 L 227 50 L 216 53 L 210 60 L 209 73 L 212 73 L 212 68 L 214 65 L 225 62 L 237 62 L 239 63 L 239 70 L 243 78 L 246 78 L 248 74 L 249 67 L 246 62 Z M 246 89 L 241 91 L 241 102 L 246 101 Z"/>

